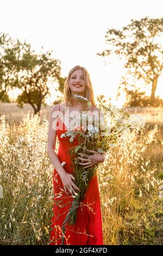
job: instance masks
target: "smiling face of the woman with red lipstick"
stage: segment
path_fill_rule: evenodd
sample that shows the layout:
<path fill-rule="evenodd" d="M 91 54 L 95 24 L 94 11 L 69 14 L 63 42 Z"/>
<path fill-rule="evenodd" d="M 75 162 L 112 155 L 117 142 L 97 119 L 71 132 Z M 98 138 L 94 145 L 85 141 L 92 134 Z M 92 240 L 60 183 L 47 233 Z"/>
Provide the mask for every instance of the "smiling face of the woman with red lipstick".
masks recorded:
<path fill-rule="evenodd" d="M 84 74 L 83 69 L 74 70 L 70 76 L 70 89 L 74 94 L 78 94 L 84 96 L 84 92 L 86 90 L 86 85 L 84 83 Z"/>

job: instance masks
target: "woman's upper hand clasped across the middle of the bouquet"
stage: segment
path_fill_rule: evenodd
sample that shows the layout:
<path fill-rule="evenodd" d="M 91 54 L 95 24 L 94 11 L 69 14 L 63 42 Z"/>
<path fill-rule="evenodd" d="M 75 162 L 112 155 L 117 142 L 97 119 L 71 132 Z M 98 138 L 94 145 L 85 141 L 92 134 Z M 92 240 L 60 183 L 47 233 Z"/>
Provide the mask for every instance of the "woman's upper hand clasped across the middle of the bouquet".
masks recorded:
<path fill-rule="evenodd" d="M 85 155 L 85 154 L 82 154 L 82 153 L 78 153 L 81 156 L 81 157 L 78 156 L 78 159 L 82 160 L 82 163 L 79 163 L 79 164 L 82 164 L 83 166 L 85 166 L 84 169 L 87 168 L 87 167 L 93 166 L 97 163 L 104 162 L 105 155 L 99 154 L 95 150 L 87 149 L 87 151 L 89 151 L 90 153 L 93 153 L 93 155 L 90 156 L 90 155 Z"/>

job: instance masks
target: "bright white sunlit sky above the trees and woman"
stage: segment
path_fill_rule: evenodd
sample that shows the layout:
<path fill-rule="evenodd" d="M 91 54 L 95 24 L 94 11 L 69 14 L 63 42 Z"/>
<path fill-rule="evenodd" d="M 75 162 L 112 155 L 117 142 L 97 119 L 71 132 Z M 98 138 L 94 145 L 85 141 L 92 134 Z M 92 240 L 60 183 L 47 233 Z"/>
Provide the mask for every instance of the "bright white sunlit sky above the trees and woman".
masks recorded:
<path fill-rule="evenodd" d="M 108 28 L 121 29 L 131 19 L 163 15 L 162 0 L 0 0 L 0 30 L 12 38 L 26 39 L 36 52 L 53 50 L 61 61 L 61 75 L 67 76 L 75 65 L 89 71 L 95 95 L 104 94 L 115 101 L 123 63 L 96 56 L 107 48 Z M 162 81 L 156 95 L 163 97 Z M 162 92 L 161 92 L 162 91 Z M 149 90 L 149 95 L 150 95 Z"/>

